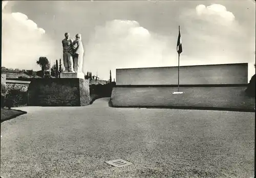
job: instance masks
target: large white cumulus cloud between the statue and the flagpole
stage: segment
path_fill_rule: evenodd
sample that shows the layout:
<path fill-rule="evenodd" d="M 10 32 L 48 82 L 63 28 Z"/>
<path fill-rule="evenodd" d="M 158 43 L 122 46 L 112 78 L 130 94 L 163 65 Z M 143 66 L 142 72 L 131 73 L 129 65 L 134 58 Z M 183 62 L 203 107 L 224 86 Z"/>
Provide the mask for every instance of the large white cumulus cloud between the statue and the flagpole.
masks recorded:
<path fill-rule="evenodd" d="M 112 70 L 115 76 L 116 68 L 175 65 L 176 42 L 170 43 L 169 38 L 148 31 L 137 21 L 112 20 L 95 28 L 85 57 L 84 72 L 98 71 L 104 77 Z"/>

